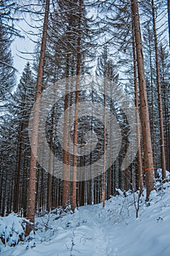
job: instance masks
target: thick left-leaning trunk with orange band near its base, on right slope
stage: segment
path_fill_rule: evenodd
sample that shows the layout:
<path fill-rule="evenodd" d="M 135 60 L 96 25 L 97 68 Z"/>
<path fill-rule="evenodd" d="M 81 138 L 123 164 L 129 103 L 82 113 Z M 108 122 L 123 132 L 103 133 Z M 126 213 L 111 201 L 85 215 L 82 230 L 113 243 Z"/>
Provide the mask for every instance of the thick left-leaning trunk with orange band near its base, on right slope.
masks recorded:
<path fill-rule="evenodd" d="M 142 53 L 142 36 L 139 21 L 139 9 L 137 0 L 131 1 L 132 14 L 134 20 L 134 34 L 136 42 L 136 57 L 138 64 L 138 76 L 139 76 L 139 99 L 141 106 L 141 122 L 142 122 L 142 136 L 144 144 L 144 172 L 145 172 L 145 184 L 147 187 L 147 197 L 149 200 L 150 192 L 154 188 L 154 166 L 152 157 L 152 141 L 150 135 L 150 117 L 147 102 L 147 85 L 144 76 L 144 60 Z"/>

